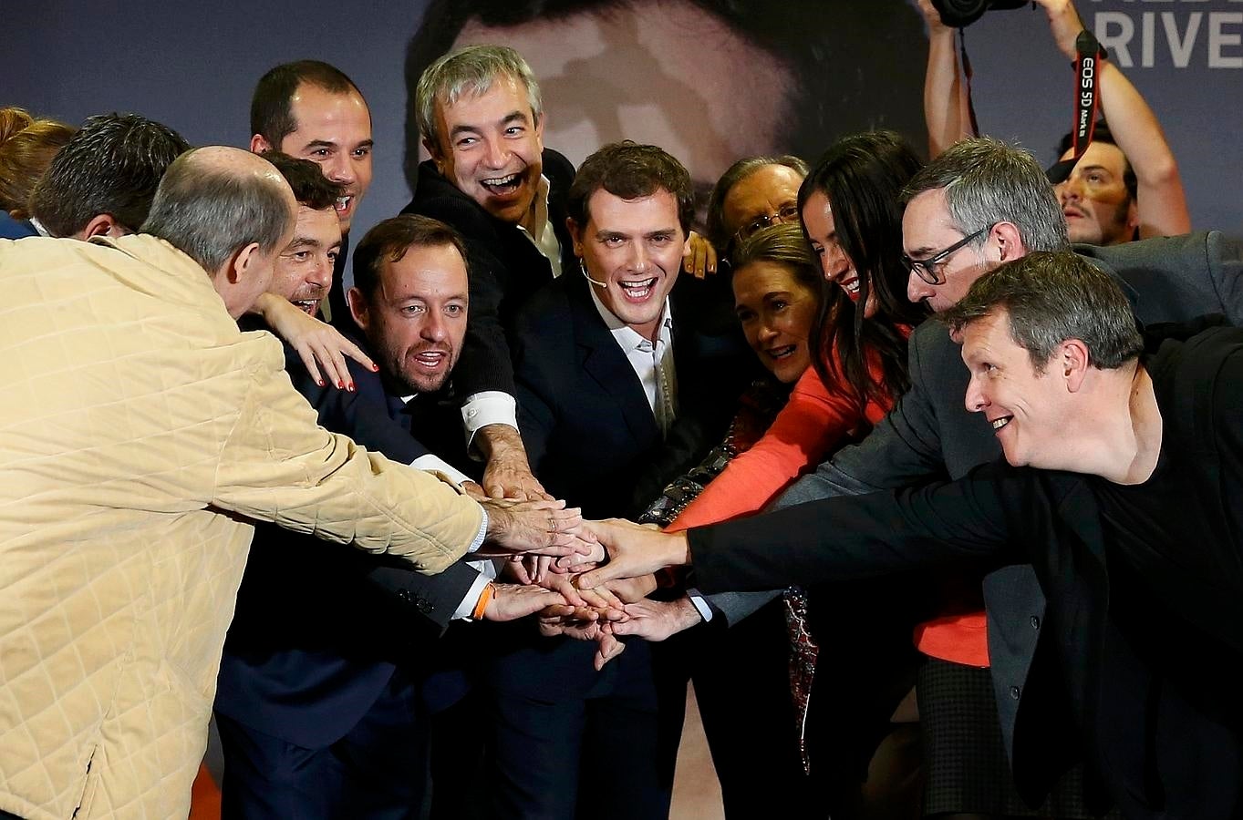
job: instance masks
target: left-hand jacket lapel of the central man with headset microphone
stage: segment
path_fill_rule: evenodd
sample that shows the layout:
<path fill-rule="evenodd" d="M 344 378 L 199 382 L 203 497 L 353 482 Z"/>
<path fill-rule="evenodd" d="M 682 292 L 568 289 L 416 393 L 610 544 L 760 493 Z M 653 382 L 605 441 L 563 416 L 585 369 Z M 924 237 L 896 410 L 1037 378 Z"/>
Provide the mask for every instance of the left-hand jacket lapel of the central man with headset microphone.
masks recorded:
<path fill-rule="evenodd" d="M 630 434 L 638 441 L 660 439 L 656 419 L 651 415 L 639 376 L 595 309 L 587 281 L 582 277 L 576 280 L 569 287 L 569 308 L 579 367 L 613 398 Z"/>

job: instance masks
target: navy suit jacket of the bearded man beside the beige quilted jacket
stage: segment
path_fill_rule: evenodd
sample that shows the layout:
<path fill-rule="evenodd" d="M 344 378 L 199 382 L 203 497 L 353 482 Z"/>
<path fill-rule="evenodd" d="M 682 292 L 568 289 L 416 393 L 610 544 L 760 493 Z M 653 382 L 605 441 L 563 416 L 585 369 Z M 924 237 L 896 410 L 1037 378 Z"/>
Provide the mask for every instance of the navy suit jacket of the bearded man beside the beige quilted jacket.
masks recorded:
<path fill-rule="evenodd" d="M 295 388 L 322 426 L 409 463 L 429 452 L 411 436 L 413 424 L 435 442 L 436 455 L 462 468 L 456 403 L 418 396 L 411 405 L 419 406 L 403 408 L 379 375 L 349 364 L 357 391 L 321 388 L 286 347 Z M 397 663 L 416 656 L 415 677 L 436 668 L 441 647 L 435 639 L 477 575 L 465 563 L 424 575 L 401 562 L 256 527 L 225 640 L 216 711 L 296 745 L 331 745 L 367 713 Z M 436 685 L 452 690 L 429 693 L 441 703 L 465 688 L 454 676 Z"/>

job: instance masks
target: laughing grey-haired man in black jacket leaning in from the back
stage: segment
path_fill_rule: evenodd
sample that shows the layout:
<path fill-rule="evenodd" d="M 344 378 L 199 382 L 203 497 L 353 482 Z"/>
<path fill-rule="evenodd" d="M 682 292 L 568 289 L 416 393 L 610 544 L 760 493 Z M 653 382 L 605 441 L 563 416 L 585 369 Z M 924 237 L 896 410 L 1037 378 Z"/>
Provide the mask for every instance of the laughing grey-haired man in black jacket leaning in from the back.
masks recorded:
<path fill-rule="evenodd" d="M 467 46 L 431 63 L 415 91 L 423 144 L 406 214 L 457 229 L 470 262 L 470 323 L 454 371 L 471 447 L 493 497 L 544 497 L 517 430 L 506 342 L 517 307 L 576 262 L 566 232 L 569 160 L 543 147 L 539 84 L 522 55 Z"/>

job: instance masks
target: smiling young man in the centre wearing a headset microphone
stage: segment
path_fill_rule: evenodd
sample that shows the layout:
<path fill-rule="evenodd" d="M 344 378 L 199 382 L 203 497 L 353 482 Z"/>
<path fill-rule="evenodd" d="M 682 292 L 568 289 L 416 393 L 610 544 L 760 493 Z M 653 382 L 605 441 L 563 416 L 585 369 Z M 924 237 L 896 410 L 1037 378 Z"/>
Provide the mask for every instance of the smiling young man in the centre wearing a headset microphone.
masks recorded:
<path fill-rule="evenodd" d="M 532 467 L 585 516 L 636 514 L 696 463 L 723 435 L 747 373 L 730 339 L 697 326 L 704 283 L 679 278 L 692 209 L 690 176 L 665 152 L 600 149 L 569 191 L 578 261 L 517 316 Z M 593 644 L 511 639 L 490 675 L 496 813 L 664 816 L 686 678 L 654 670 L 643 642 L 598 673 Z"/>

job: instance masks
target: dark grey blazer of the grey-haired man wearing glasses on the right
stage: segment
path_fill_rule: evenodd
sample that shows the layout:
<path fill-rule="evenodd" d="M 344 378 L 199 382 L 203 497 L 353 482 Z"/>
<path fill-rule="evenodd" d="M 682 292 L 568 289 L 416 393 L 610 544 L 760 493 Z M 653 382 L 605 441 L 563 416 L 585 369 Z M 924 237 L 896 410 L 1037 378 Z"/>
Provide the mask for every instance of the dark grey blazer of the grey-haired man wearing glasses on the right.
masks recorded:
<path fill-rule="evenodd" d="M 1217 231 L 1109 247 L 1084 245 L 1075 246 L 1075 251 L 1124 282 L 1141 322 L 1223 313 L 1232 323 L 1243 323 L 1243 248 Z M 910 374 L 910 391 L 871 434 L 859 445 L 842 449 L 832 462 L 794 485 L 783 503 L 787 498 L 804 502 L 958 478 L 1001 455 L 983 416 L 963 408 L 970 374 L 961 348 L 936 319 L 925 322 L 911 335 Z M 1033 703 L 1023 695 L 1044 621 L 1044 594 L 1035 574 L 1027 564 L 998 569 L 984 578 L 983 594 L 1006 745 L 1014 748 L 1016 724 L 1021 721 L 1057 744 L 1059 724 L 1045 718 L 1058 707 Z M 1025 716 L 1029 711 L 1030 717 Z M 1059 774 L 1033 765 L 1013 768 L 1019 793 L 1033 805 L 1040 803 Z"/>

